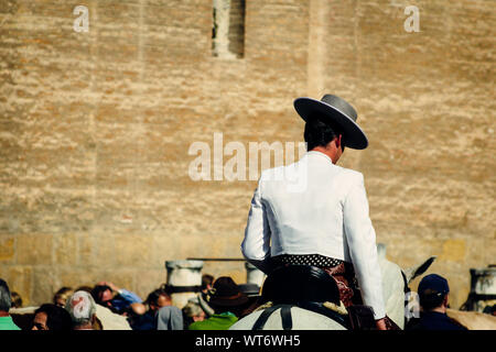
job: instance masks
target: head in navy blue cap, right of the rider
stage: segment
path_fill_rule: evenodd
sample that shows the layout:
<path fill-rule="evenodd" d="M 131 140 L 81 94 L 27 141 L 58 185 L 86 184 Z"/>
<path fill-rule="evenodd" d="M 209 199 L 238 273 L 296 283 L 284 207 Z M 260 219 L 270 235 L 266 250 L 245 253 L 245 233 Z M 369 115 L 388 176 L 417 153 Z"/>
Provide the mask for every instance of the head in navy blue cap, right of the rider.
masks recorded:
<path fill-rule="evenodd" d="M 448 280 L 440 275 L 431 274 L 424 276 L 419 284 L 418 293 L 420 306 L 424 311 L 444 310 L 448 307 L 450 287 Z"/>

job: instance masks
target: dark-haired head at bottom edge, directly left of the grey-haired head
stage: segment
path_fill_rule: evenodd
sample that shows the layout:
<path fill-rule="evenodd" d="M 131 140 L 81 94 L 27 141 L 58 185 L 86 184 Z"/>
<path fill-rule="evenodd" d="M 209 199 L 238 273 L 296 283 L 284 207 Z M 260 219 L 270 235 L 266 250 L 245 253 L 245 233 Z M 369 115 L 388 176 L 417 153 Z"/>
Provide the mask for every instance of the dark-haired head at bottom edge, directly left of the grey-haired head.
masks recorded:
<path fill-rule="evenodd" d="M 34 311 L 32 330 L 72 330 L 73 321 L 69 314 L 62 307 L 52 304 L 42 305 Z"/>

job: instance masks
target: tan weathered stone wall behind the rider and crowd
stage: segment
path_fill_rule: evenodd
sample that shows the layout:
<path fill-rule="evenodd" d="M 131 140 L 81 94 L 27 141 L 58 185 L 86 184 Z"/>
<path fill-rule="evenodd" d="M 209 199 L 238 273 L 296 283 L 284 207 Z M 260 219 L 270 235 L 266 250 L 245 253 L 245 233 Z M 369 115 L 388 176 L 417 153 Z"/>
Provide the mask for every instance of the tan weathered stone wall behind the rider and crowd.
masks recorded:
<path fill-rule="evenodd" d="M 144 298 L 168 260 L 240 257 L 256 182 L 193 182 L 190 145 L 301 141 L 293 99 L 333 92 L 369 136 L 342 165 L 365 175 L 378 241 L 401 266 L 438 255 L 459 307 L 496 254 L 495 3 L 242 2 L 231 58 L 213 0 L 0 3 L 0 277 L 26 305 L 104 279 Z"/>

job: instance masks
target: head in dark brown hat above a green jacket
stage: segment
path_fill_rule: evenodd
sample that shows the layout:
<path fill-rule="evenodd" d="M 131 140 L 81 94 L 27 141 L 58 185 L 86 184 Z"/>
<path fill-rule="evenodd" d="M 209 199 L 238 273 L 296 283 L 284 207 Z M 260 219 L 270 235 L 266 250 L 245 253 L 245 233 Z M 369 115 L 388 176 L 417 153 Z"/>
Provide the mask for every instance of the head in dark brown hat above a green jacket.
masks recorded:
<path fill-rule="evenodd" d="M 238 285 L 229 276 L 217 278 L 213 292 L 208 305 L 216 314 L 230 311 L 239 316 L 248 302 L 248 297 L 240 292 Z"/>

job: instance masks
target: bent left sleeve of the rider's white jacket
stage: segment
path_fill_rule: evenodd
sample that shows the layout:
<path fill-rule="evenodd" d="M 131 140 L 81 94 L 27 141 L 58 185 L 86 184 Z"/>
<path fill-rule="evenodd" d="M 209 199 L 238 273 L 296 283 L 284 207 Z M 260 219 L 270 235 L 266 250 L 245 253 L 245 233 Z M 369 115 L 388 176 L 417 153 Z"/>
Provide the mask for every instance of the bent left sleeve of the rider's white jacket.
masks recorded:
<path fill-rule="evenodd" d="M 265 268 L 260 265 L 270 257 L 270 228 L 261 201 L 261 188 L 262 182 L 260 179 L 251 199 L 241 253 L 250 263 L 265 272 Z"/>

